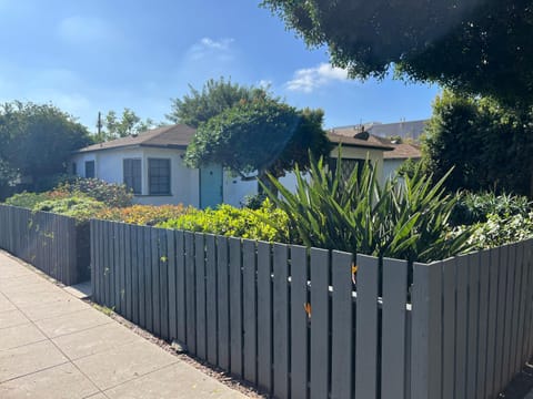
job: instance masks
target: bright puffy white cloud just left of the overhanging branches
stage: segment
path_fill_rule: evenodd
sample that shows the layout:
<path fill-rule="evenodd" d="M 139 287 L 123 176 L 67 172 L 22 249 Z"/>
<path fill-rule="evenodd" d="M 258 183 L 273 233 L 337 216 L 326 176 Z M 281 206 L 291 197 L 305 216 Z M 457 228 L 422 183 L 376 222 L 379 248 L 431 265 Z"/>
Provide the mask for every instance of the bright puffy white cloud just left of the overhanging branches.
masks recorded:
<path fill-rule="evenodd" d="M 285 83 L 290 91 L 311 93 L 313 90 L 334 81 L 348 80 L 348 72 L 341 68 L 333 68 L 329 63 L 321 63 L 314 68 L 300 69 L 294 72 L 293 79 Z"/>

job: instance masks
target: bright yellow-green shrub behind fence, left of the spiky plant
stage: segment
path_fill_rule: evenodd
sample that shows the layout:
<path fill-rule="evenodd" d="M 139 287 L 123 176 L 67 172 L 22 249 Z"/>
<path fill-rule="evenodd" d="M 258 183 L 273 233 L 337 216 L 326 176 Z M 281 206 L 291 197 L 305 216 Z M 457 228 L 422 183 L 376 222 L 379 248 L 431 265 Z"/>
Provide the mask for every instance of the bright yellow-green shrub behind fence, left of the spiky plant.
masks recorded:
<path fill-rule="evenodd" d="M 285 213 L 275 209 L 266 200 L 259 209 L 239 209 L 225 204 L 217 209 L 190 209 L 180 217 L 160 223 L 158 226 L 288 243 L 291 241 L 288 223 Z"/>

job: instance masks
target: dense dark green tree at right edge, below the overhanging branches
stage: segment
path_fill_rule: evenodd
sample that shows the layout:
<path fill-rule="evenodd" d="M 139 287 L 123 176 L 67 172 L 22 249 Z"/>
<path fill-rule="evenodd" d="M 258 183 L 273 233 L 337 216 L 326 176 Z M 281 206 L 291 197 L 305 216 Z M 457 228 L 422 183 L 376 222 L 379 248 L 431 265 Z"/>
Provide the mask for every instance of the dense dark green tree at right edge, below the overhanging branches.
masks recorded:
<path fill-rule="evenodd" d="M 487 98 L 444 91 L 433 103 L 423 163 L 450 190 L 512 192 L 533 197 L 533 112 Z"/>

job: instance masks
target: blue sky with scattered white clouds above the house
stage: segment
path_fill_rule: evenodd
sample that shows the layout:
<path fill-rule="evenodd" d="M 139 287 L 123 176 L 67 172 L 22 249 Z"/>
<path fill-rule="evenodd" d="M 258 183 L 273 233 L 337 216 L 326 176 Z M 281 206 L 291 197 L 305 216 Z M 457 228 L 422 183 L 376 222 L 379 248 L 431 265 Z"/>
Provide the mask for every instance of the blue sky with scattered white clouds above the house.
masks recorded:
<path fill-rule="evenodd" d="M 269 85 L 325 127 L 431 116 L 436 85 L 348 80 L 258 0 L 0 0 L 0 102 L 52 103 L 95 131 L 124 108 L 165 122 L 171 100 L 224 76 Z"/>

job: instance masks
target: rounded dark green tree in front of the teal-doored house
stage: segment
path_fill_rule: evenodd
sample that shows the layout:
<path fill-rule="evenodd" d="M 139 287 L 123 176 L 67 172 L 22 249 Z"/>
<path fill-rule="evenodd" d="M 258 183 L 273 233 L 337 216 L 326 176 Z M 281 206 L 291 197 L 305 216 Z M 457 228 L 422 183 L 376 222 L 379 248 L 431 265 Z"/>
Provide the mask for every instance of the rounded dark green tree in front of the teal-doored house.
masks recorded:
<path fill-rule="evenodd" d="M 210 163 L 245 180 L 265 174 L 275 177 L 309 166 L 309 151 L 328 155 L 331 144 L 322 130 L 321 110 L 296 110 L 276 99 L 242 102 L 202 123 L 187 149 L 185 163 L 201 167 Z"/>

